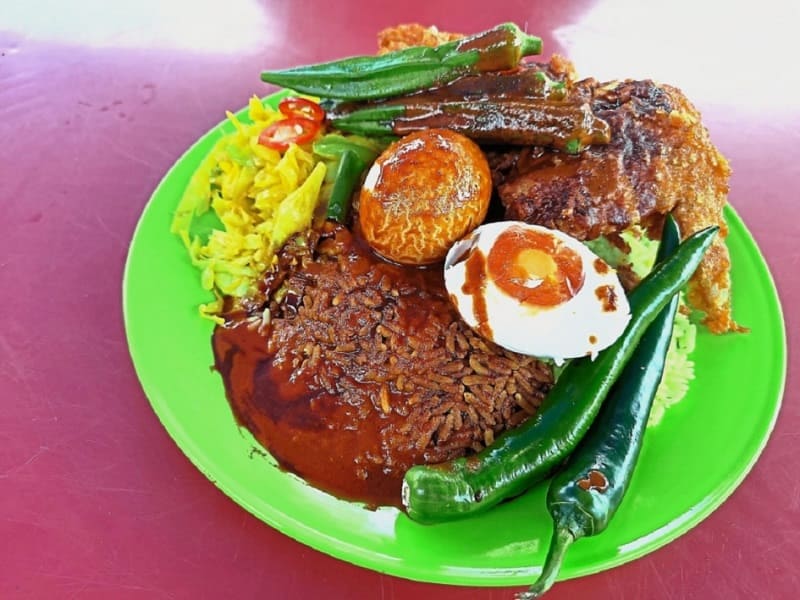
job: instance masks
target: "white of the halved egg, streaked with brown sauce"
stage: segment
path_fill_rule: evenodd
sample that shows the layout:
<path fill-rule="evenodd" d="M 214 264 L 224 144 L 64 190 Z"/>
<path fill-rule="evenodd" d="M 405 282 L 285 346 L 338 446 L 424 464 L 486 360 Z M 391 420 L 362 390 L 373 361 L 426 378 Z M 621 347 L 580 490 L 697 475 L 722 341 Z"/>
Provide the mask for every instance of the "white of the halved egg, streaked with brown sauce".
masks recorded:
<path fill-rule="evenodd" d="M 470 251 L 480 251 L 489 256 L 497 238 L 515 226 L 552 235 L 578 254 L 583 267 L 583 285 L 577 294 L 562 304 L 531 306 L 500 289 L 487 272 L 482 295 L 491 332 L 486 337 L 508 350 L 551 358 L 557 364 L 569 358 L 594 357 L 613 344 L 630 320 L 630 307 L 616 271 L 608 267 L 598 272 L 595 261 L 601 259 L 577 239 L 560 231 L 519 221 L 482 225 L 450 248 L 444 263 L 445 286 L 464 321 L 478 329 L 473 295 L 463 290 L 466 282 L 466 261 L 463 258 Z M 532 281 L 531 286 L 535 285 L 536 281 Z M 615 310 L 604 308 L 603 299 L 595 293 L 600 286 L 610 286 L 613 290 Z"/>

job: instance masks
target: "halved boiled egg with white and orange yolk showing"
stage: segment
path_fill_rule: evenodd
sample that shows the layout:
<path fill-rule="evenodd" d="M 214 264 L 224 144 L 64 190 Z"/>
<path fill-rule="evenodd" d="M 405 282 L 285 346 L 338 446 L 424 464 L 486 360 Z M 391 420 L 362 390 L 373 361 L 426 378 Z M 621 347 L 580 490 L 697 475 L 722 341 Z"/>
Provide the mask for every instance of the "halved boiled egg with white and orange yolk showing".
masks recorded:
<path fill-rule="evenodd" d="M 450 248 L 444 280 L 483 337 L 559 364 L 596 355 L 630 320 L 616 271 L 575 238 L 538 225 L 478 227 Z"/>

